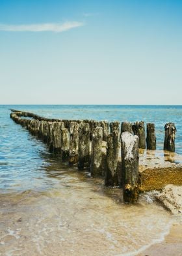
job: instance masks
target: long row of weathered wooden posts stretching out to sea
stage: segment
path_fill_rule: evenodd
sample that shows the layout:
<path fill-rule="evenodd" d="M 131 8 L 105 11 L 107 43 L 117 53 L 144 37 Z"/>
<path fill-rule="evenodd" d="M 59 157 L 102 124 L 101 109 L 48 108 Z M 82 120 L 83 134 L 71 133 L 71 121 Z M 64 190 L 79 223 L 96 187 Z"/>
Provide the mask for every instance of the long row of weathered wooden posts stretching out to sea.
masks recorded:
<path fill-rule="evenodd" d="M 114 121 L 57 120 L 12 110 L 10 118 L 32 135 L 38 136 L 59 155 L 62 161 L 76 165 L 79 170 L 88 169 L 91 176 L 104 176 L 105 185 L 122 186 L 125 202 L 136 202 L 138 186 L 138 148 L 156 149 L 155 125 L 144 122 L 134 124 Z M 31 118 L 31 119 L 28 119 Z M 175 150 L 175 125 L 165 125 L 164 150 Z M 106 154 L 103 152 L 106 144 Z M 119 159 L 121 147 L 122 161 Z"/>

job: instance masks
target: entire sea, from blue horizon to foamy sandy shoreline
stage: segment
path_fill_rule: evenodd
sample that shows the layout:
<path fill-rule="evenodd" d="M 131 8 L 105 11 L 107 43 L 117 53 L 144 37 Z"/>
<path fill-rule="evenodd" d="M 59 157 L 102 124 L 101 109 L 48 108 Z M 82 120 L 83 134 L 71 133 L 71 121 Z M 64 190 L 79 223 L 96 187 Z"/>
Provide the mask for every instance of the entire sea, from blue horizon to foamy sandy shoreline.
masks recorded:
<path fill-rule="evenodd" d="M 0 255 L 137 255 L 164 240 L 175 219 L 149 195 L 124 204 L 122 191 L 61 163 L 47 146 L 10 119 L 10 109 L 68 120 L 155 123 L 177 128 L 182 154 L 182 106 L 0 105 Z"/>

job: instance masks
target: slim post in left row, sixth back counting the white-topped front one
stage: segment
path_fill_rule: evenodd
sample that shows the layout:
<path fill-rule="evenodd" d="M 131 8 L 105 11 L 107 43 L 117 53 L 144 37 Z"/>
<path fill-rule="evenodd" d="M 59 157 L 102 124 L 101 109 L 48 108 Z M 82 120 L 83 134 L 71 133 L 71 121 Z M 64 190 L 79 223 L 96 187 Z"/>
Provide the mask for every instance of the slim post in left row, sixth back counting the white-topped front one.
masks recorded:
<path fill-rule="evenodd" d="M 67 128 L 61 129 L 60 155 L 62 161 L 68 161 L 70 149 L 70 133 Z"/>

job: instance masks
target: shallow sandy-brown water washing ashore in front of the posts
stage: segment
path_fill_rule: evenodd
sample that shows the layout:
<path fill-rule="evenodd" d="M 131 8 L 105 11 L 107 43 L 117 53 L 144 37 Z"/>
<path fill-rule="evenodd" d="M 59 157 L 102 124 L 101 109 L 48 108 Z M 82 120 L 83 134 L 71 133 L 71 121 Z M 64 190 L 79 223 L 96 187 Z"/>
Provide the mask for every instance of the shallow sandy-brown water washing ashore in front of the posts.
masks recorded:
<path fill-rule="evenodd" d="M 132 255 L 172 223 L 161 206 L 123 204 L 120 189 L 86 174 L 57 170 L 57 180 L 44 191 L 1 195 L 2 255 Z"/>

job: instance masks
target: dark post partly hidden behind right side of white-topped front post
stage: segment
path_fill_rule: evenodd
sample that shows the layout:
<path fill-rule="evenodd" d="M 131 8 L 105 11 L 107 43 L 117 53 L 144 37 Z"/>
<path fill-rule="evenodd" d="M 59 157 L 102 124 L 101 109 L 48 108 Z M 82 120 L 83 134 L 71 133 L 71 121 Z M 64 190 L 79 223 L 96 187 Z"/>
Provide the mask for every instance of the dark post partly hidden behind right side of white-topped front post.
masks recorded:
<path fill-rule="evenodd" d="M 139 148 L 146 149 L 146 133 L 144 121 L 136 121 L 133 126 L 133 133 L 139 138 Z"/>

